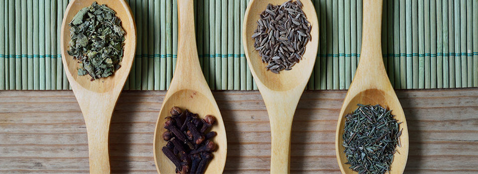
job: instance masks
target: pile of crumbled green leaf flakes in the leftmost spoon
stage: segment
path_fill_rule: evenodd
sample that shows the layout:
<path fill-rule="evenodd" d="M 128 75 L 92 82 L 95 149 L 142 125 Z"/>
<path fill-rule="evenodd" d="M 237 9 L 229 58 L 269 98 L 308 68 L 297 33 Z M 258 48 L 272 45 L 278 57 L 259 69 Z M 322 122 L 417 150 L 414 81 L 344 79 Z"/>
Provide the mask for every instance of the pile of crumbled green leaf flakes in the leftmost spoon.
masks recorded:
<path fill-rule="evenodd" d="M 79 76 L 88 74 L 94 81 L 119 69 L 125 32 L 113 9 L 93 2 L 78 11 L 68 25 L 71 27 L 68 54 L 78 59 Z"/>

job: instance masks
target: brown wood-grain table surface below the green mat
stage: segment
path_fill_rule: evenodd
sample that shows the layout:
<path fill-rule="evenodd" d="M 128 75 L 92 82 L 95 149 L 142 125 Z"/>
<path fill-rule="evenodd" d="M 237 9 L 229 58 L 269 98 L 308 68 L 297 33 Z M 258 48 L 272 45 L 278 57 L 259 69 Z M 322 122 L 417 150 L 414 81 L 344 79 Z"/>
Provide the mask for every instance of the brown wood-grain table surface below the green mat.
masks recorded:
<path fill-rule="evenodd" d="M 213 92 L 228 137 L 224 173 L 268 173 L 270 131 L 258 91 Z M 110 133 L 114 173 L 154 174 L 164 91 L 125 91 Z M 346 91 L 306 91 L 295 113 L 291 172 L 340 173 L 335 129 Z M 398 90 L 410 134 L 407 174 L 478 173 L 478 88 Z M 0 91 L 0 173 L 88 173 L 88 142 L 71 91 Z"/>

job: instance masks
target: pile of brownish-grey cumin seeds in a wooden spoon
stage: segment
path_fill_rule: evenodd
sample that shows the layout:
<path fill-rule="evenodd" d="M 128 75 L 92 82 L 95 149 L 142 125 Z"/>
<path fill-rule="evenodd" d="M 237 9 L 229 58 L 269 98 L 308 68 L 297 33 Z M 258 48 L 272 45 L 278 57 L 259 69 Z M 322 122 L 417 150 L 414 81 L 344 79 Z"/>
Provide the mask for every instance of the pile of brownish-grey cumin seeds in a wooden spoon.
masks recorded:
<path fill-rule="evenodd" d="M 305 45 L 311 40 L 311 25 L 302 11 L 300 0 L 288 0 L 281 5 L 267 5 L 260 13 L 252 35 L 255 50 L 272 73 L 291 70 L 302 60 Z"/>

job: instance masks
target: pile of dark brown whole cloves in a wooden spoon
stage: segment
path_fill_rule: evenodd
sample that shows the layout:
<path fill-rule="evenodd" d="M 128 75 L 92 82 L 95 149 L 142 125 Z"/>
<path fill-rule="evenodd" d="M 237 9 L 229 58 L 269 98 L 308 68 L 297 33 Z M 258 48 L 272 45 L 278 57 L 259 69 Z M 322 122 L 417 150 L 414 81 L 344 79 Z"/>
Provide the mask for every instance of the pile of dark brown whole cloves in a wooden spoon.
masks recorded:
<path fill-rule="evenodd" d="M 216 122 L 212 115 L 204 119 L 198 114 L 181 110 L 179 107 L 171 108 L 171 116 L 166 117 L 162 135 L 167 141 L 162 151 L 164 155 L 176 166 L 177 174 L 203 174 L 208 163 L 212 160 L 217 145 L 209 139 L 217 132 L 206 132 Z"/>

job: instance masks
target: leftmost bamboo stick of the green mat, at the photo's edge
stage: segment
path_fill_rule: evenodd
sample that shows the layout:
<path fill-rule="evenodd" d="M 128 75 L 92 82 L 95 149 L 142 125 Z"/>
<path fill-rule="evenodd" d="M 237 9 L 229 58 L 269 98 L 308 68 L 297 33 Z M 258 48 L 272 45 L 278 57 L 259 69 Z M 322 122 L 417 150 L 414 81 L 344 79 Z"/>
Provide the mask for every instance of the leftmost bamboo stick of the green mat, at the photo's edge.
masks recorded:
<path fill-rule="evenodd" d="M 0 0 L 0 90 L 5 90 L 5 1 Z"/>

